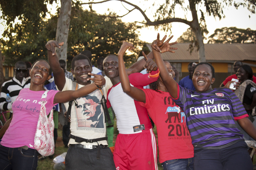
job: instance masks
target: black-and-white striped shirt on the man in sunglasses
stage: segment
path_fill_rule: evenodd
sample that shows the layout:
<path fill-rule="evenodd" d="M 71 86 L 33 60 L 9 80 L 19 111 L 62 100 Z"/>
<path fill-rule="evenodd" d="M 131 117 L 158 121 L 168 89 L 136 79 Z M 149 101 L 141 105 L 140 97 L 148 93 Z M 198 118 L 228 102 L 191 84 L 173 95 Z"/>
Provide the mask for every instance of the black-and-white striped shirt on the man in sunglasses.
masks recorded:
<path fill-rule="evenodd" d="M 11 110 L 12 109 L 12 102 L 16 100 L 18 97 L 20 90 L 23 88 L 29 88 L 30 87 L 30 77 L 29 78 L 23 78 L 22 83 L 20 83 L 19 80 L 15 78 L 15 76 L 12 78 L 12 80 L 6 81 L 2 84 L 2 92 L 0 95 L 0 108 L 2 110 Z M 9 93 L 11 97 L 11 102 L 6 102 L 6 96 L 7 93 Z"/>

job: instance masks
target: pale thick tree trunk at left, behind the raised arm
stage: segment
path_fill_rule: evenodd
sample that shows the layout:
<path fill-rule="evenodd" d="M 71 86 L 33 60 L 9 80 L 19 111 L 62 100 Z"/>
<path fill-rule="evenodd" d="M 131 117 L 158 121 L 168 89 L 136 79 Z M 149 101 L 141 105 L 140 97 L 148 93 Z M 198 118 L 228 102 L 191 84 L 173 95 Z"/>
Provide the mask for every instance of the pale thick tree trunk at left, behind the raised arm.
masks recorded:
<path fill-rule="evenodd" d="M 56 48 L 59 59 L 67 61 L 67 39 L 70 27 L 71 0 L 61 0 L 60 15 L 57 23 L 56 41 L 64 42 L 61 49 Z"/>

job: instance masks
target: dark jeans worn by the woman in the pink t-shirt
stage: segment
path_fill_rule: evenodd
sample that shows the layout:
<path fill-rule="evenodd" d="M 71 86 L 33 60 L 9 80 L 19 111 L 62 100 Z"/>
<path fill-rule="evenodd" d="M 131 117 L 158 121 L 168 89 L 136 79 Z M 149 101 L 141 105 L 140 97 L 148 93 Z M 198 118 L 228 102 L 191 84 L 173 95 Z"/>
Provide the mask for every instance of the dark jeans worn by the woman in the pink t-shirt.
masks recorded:
<path fill-rule="evenodd" d="M 38 152 L 0 145 L 0 170 L 36 170 Z"/>

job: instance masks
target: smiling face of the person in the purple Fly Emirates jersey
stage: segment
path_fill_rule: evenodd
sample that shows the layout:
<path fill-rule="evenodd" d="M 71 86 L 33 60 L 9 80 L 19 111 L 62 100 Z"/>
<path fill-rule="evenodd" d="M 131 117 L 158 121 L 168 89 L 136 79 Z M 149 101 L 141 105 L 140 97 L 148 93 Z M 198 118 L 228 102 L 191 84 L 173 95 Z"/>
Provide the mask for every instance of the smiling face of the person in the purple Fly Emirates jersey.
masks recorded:
<path fill-rule="evenodd" d="M 192 81 L 197 92 L 210 90 L 212 83 L 215 81 L 215 78 L 212 78 L 210 66 L 206 64 L 197 66 L 194 70 Z"/>

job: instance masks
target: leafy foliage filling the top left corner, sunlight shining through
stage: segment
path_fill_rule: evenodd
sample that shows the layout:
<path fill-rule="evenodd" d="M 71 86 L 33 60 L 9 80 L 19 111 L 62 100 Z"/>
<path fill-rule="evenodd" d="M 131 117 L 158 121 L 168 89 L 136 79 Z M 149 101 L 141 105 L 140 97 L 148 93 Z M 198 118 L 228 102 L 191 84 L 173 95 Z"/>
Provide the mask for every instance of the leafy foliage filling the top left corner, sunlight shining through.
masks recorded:
<path fill-rule="evenodd" d="M 4 19 L 7 25 L 3 33 L 8 39 L 7 45 L 21 41 L 24 32 L 30 33 L 26 35 L 30 39 L 36 39 L 37 33 L 40 32 L 41 20 L 48 12 L 47 4 L 52 2 L 53 0 L 0 0 L 0 18 Z"/>

